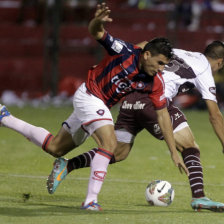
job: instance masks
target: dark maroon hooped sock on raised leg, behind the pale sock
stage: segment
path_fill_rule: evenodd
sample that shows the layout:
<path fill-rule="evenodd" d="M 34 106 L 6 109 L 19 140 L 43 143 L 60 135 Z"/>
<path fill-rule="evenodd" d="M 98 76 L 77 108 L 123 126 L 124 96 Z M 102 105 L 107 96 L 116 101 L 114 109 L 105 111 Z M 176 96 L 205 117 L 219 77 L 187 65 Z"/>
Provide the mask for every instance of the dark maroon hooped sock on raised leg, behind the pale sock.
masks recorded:
<path fill-rule="evenodd" d="M 92 150 L 85 152 L 81 155 L 78 155 L 72 159 L 68 160 L 67 170 L 70 173 L 72 170 L 80 169 L 84 167 L 90 167 L 91 162 L 97 152 L 97 148 L 93 148 Z M 110 160 L 110 164 L 115 163 L 115 158 L 112 156 Z"/>

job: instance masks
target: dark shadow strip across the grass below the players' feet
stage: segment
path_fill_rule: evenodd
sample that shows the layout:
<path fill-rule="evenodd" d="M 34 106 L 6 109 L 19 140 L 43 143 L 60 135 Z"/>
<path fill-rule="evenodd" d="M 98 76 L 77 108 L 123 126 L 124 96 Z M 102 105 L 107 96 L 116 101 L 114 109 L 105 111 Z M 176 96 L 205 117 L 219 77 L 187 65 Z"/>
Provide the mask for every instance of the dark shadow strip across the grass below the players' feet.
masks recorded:
<path fill-rule="evenodd" d="M 109 207 L 109 206 L 107 206 Z M 140 209 L 139 207 L 142 207 Z M 148 207 L 144 205 L 136 205 L 136 209 L 105 209 L 102 212 L 96 211 L 85 211 L 81 210 L 80 206 L 67 206 L 67 205 L 52 205 L 47 203 L 16 203 L 14 205 L 9 205 L 8 207 L 0 207 L 0 216 L 10 216 L 10 217 L 39 217 L 39 216 L 66 216 L 66 215 L 147 215 L 147 214 L 190 214 L 194 213 L 191 209 L 186 210 L 173 210 L 166 208 L 155 208 Z M 210 211 L 203 211 L 210 212 Z"/>

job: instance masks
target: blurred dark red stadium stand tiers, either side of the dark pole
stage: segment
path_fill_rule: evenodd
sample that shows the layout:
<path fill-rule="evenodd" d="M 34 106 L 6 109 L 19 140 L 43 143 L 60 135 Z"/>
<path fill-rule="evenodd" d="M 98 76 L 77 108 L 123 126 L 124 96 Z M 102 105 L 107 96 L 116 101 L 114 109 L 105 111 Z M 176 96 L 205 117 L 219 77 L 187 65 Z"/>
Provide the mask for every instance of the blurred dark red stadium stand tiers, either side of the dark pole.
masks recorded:
<path fill-rule="evenodd" d="M 4 90 L 15 90 L 18 94 L 26 91 L 30 96 L 39 96 L 45 91 L 45 14 L 43 5 L 37 5 L 37 2 L 43 4 L 44 1 L 32 2 L 22 8 L 22 0 L 0 0 L 0 95 Z M 203 51 L 210 41 L 224 40 L 224 12 L 203 11 L 199 29 L 190 32 L 186 28 L 168 29 L 170 10 L 164 7 L 139 10 L 128 7 L 127 1 L 111 0 L 107 3 L 112 8 L 114 20 L 106 26 L 108 31 L 132 43 L 166 36 L 177 48 Z M 82 4 L 70 8 L 64 5 L 62 10 L 58 88 L 59 91 L 69 89 L 70 95 L 77 83 L 85 80 L 88 68 L 103 54 L 87 30 L 94 11 L 95 4 L 89 5 L 88 10 Z M 50 90 L 49 86 L 47 88 Z"/>

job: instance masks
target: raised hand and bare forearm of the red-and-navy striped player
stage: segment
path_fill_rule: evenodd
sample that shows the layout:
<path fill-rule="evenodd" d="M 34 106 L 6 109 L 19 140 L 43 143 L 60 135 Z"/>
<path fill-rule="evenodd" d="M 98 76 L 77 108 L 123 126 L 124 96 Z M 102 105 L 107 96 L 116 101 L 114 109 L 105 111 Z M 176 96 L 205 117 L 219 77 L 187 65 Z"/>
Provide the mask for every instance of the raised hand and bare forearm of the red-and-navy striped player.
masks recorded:
<path fill-rule="evenodd" d="M 89 32 L 96 39 L 99 40 L 104 35 L 104 23 L 112 22 L 112 18 L 109 17 L 110 9 L 106 3 L 98 4 L 95 12 L 95 17 L 89 23 Z"/>

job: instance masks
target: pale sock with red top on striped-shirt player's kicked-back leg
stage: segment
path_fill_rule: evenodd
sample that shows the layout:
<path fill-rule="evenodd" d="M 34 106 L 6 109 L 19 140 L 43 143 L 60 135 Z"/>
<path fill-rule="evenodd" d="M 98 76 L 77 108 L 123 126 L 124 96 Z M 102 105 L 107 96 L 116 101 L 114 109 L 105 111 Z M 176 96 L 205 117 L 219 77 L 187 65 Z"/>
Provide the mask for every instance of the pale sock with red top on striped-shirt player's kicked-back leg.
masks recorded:
<path fill-rule="evenodd" d="M 28 140 L 33 142 L 35 145 L 40 147 L 46 147 L 50 142 L 50 136 L 52 136 L 49 131 L 45 130 L 44 128 L 31 125 L 12 115 L 4 117 L 1 123 L 4 127 L 17 131 L 18 133 L 25 136 Z"/>

